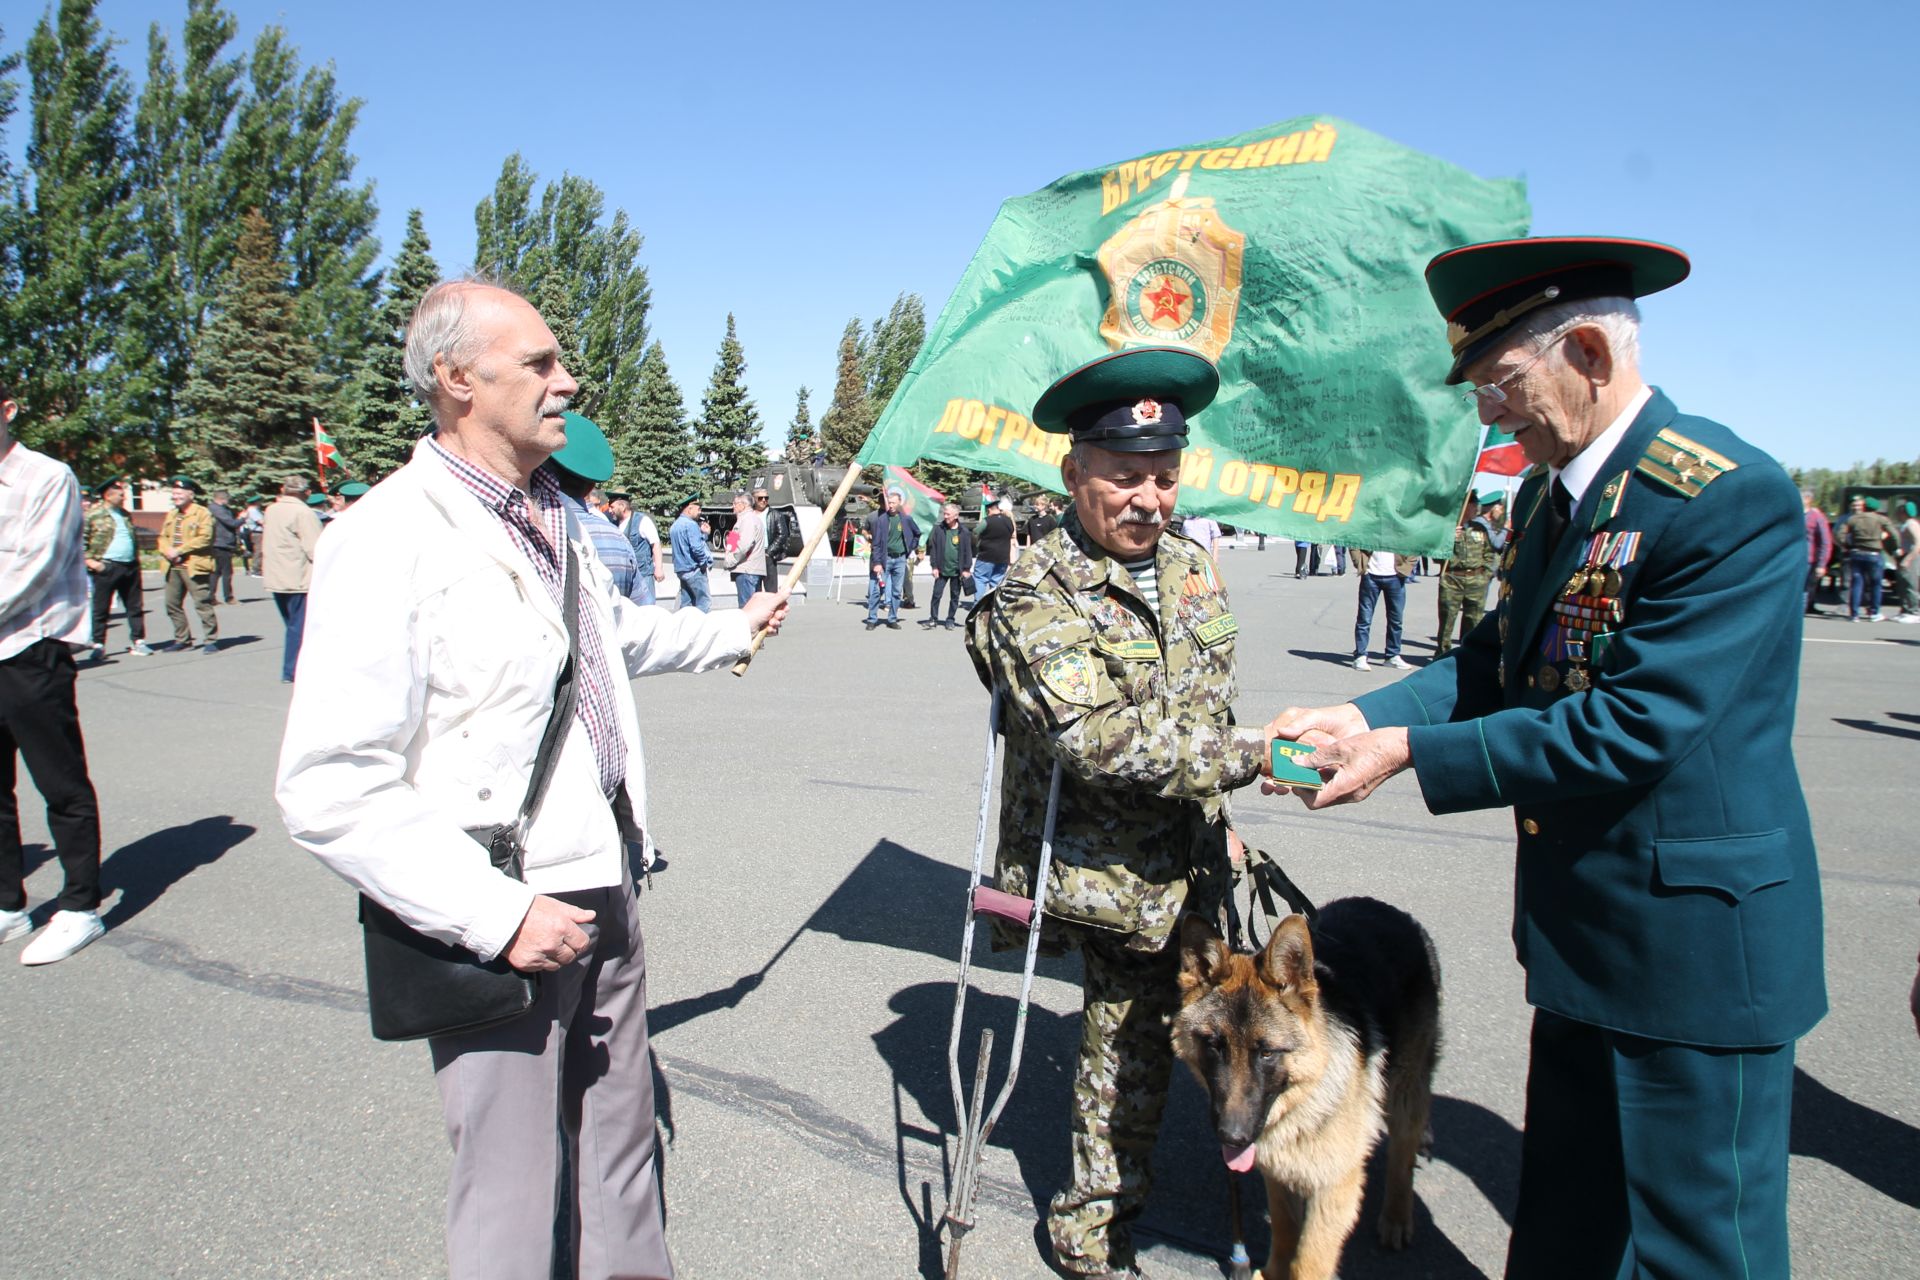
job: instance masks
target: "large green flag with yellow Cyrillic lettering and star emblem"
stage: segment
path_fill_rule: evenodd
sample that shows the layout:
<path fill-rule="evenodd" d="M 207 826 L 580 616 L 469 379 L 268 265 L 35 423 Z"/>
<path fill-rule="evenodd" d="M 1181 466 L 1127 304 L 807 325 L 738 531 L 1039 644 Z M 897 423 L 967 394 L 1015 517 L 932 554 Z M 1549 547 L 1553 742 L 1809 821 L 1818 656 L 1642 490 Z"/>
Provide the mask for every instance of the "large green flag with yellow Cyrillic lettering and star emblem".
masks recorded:
<path fill-rule="evenodd" d="M 1179 510 L 1279 537 L 1446 555 L 1480 426 L 1448 370 L 1427 261 L 1526 234 L 1488 182 L 1306 117 L 1073 173 L 1000 205 L 866 464 L 924 457 L 1060 487 L 1027 420 L 1098 355 L 1181 344 L 1219 365 Z"/>

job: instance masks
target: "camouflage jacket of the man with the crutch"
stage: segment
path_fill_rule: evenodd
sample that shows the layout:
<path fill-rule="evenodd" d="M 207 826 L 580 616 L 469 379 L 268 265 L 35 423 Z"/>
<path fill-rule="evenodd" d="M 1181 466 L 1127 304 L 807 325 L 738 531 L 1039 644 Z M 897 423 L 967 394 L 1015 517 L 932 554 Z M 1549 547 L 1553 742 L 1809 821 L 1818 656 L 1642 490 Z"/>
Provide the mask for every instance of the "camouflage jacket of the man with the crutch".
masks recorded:
<path fill-rule="evenodd" d="M 1091 927 L 1158 952 L 1188 892 L 1196 906 L 1227 892 L 1225 793 L 1260 777 L 1267 739 L 1233 723 L 1238 626 L 1213 560 L 1165 533 L 1156 581 L 1158 612 L 1069 510 L 968 618 L 973 666 L 1004 691 L 1006 892 L 1033 892 L 1052 764 L 1064 766 L 1046 950 Z"/>

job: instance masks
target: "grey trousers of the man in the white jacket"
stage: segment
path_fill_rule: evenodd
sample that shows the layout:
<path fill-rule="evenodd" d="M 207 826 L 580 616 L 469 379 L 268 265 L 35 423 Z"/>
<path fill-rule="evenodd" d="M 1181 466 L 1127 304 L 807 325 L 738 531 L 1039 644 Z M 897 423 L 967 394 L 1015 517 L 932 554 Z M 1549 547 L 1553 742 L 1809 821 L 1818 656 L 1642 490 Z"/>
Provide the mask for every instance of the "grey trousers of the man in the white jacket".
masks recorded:
<path fill-rule="evenodd" d="M 453 1144 L 453 1280 L 553 1274 L 564 1130 L 578 1280 L 672 1280 L 655 1171 L 647 958 L 634 887 L 557 894 L 593 946 L 540 979 L 520 1019 L 428 1042 Z"/>

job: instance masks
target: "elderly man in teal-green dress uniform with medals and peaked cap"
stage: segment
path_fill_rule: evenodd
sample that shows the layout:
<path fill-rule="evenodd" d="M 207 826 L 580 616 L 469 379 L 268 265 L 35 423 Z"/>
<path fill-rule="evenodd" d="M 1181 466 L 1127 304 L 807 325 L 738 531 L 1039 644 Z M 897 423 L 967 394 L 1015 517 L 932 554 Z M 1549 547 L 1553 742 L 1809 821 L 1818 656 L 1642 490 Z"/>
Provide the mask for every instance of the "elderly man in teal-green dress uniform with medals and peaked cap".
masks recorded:
<path fill-rule="evenodd" d="M 1788 1274 L 1793 1042 L 1826 1011 L 1793 770 L 1807 547 L 1793 482 L 1640 380 L 1638 240 L 1436 257 L 1453 370 L 1534 470 L 1501 599 L 1457 651 L 1344 706 L 1309 804 L 1411 768 L 1436 814 L 1513 806 L 1534 1006 L 1509 1276 Z M 1317 731 L 1317 733 L 1315 733 Z"/>

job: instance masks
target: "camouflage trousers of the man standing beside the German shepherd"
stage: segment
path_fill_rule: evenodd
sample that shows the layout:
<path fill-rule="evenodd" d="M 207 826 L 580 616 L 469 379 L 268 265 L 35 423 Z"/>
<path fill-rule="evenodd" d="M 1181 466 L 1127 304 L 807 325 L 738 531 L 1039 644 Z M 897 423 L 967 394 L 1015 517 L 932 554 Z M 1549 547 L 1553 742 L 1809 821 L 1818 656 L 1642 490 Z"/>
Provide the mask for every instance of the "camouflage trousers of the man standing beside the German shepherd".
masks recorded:
<path fill-rule="evenodd" d="M 1073 1182 L 1054 1196 L 1046 1234 L 1060 1267 L 1133 1263 L 1129 1222 L 1154 1182 L 1154 1140 L 1173 1071 L 1179 948 L 1127 950 L 1125 936 L 1081 931 L 1081 1048 L 1073 1071 Z"/>

